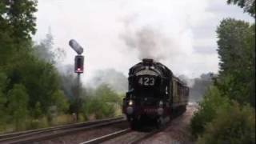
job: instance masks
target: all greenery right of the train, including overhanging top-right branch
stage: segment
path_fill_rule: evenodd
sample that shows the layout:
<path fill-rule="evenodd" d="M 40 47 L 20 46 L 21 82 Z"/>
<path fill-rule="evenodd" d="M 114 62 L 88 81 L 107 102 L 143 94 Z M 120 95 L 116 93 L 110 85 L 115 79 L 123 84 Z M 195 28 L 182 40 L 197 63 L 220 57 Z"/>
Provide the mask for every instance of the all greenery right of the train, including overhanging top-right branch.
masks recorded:
<path fill-rule="evenodd" d="M 255 1 L 229 0 L 255 18 Z M 223 19 L 220 70 L 190 122 L 196 143 L 255 143 L 255 23 Z"/>

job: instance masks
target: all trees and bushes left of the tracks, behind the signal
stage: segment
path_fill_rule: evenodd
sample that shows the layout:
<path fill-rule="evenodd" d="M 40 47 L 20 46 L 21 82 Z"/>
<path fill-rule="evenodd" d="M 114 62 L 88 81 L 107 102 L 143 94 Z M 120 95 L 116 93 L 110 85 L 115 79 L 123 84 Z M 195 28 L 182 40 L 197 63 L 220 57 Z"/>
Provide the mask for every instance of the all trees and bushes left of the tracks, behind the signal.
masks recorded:
<path fill-rule="evenodd" d="M 39 44 L 32 41 L 37 4 L 0 1 L 0 133 L 75 122 L 75 77 L 58 72 L 62 53 L 54 51 L 50 33 Z M 80 121 L 118 114 L 122 97 L 110 86 L 82 91 Z"/>

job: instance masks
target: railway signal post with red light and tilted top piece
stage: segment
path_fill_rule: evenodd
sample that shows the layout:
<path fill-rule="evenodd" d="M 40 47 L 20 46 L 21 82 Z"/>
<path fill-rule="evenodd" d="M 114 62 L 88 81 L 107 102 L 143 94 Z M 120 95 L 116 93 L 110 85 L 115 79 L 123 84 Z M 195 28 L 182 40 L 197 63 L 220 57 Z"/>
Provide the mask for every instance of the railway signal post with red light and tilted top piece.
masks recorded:
<path fill-rule="evenodd" d="M 74 39 L 71 39 L 69 44 L 70 44 L 70 47 L 78 54 L 74 57 L 74 73 L 78 74 L 78 77 L 77 77 L 78 86 L 77 86 L 76 108 L 75 108 L 76 109 L 75 110 L 76 111 L 76 120 L 78 121 L 79 108 L 80 108 L 80 104 L 81 104 L 81 102 L 80 102 L 80 91 L 81 91 L 80 74 L 83 73 L 83 62 L 84 62 L 84 57 L 83 57 L 83 55 L 81 55 L 83 52 L 83 48 Z"/>

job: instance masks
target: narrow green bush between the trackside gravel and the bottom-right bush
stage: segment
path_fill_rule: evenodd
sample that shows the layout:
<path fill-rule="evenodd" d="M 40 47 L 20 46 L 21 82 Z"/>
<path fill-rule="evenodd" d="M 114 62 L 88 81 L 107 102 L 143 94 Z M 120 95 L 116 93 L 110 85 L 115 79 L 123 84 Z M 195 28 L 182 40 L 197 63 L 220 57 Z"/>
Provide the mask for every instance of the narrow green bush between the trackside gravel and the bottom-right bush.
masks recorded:
<path fill-rule="evenodd" d="M 212 122 L 218 109 L 229 105 L 229 99 L 222 97 L 216 86 L 210 86 L 202 102 L 199 103 L 199 110 L 190 122 L 190 131 L 194 138 L 198 138 L 204 132 L 206 124 Z"/>

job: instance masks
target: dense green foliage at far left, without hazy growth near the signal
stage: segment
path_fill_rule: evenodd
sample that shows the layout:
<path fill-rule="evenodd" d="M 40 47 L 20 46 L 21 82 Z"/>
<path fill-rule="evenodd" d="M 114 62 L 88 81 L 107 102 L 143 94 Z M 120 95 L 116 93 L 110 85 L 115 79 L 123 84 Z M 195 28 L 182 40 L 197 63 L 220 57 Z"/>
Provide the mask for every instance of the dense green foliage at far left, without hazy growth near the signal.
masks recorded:
<path fill-rule="evenodd" d="M 48 116 L 51 106 L 61 106 L 58 71 L 34 54 L 33 0 L 0 2 L 0 105 L 2 129 L 14 124 L 24 130 L 31 119 Z M 23 125 L 22 125 L 23 124 Z M 22 127 L 21 127 L 22 126 Z"/>

